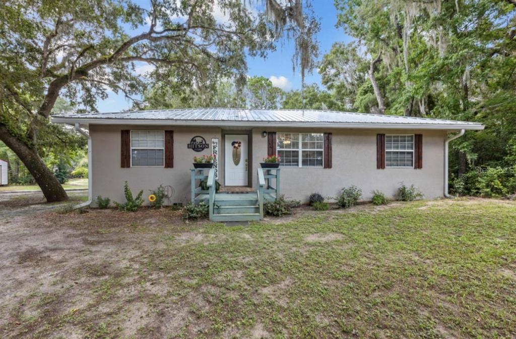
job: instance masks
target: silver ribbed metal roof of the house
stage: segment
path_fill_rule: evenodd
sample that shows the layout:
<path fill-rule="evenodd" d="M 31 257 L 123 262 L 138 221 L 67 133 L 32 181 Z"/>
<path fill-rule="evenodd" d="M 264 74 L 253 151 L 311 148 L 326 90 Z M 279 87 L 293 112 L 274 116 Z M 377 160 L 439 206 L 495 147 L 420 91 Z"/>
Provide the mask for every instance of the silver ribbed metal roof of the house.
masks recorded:
<path fill-rule="evenodd" d="M 422 128 L 481 130 L 476 122 L 318 110 L 177 109 L 112 113 L 62 114 L 65 124 L 179 126 L 284 126 L 333 128 Z"/>

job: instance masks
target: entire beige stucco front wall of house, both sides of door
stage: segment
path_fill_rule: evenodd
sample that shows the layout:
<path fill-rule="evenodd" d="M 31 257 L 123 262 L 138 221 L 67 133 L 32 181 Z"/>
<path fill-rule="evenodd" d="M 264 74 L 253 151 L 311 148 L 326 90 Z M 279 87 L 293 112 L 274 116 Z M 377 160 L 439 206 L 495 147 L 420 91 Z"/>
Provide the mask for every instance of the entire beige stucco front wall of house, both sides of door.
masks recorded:
<path fill-rule="evenodd" d="M 162 167 L 120 167 L 120 130 L 165 130 L 174 131 L 174 168 Z M 267 138 L 263 131 L 331 132 L 333 168 L 291 168 L 281 170 L 281 191 L 287 198 L 308 200 L 310 193 L 336 196 L 338 191 L 352 184 L 360 187 L 363 198 L 372 196 L 373 190 L 380 190 L 393 196 L 403 181 L 414 184 L 425 194 L 425 198 L 443 196 L 444 184 L 444 140 L 445 131 L 392 131 L 361 129 L 252 129 L 252 150 L 250 152 L 251 184 L 256 186 L 256 168 L 267 155 Z M 231 133 L 238 131 L 231 130 Z M 246 131 L 241 131 L 245 133 Z M 376 169 L 377 133 L 421 133 L 423 134 L 423 168 Z M 170 185 L 175 194 L 172 203 L 187 203 L 190 199 L 190 171 L 193 156 L 209 154 L 211 149 L 194 152 L 187 149 L 192 136 L 201 135 L 210 143 L 212 137 L 219 138 L 219 181 L 224 183 L 223 131 L 221 128 L 185 128 L 152 126 L 90 126 L 92 137 L 93 197 L 107 196 L 122 202 L 123 184 L 127 180 L 134 194 L 149 190 L 159 184 Z"/>

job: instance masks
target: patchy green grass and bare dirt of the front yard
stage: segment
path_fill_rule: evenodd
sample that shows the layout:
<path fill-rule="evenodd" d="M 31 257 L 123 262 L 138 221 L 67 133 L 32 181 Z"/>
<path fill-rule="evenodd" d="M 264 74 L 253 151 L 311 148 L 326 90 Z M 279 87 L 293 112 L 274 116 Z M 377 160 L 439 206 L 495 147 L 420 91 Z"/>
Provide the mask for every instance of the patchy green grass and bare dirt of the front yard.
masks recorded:
<path fill-rule="evenodd" d="M 34 276 L 0 308 L 7 337 L 516 336 L 514 202 L 367 205 L 235 227 L 92 210 L 30 227 L 76 243 L 17 253 L 12 268 Z"/>

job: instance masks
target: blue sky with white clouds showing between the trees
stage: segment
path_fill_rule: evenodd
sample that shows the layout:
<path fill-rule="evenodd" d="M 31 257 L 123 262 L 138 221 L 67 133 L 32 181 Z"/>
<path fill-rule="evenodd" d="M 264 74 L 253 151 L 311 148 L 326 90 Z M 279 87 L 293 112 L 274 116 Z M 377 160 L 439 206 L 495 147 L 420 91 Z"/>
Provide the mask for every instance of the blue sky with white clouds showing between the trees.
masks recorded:
<path fill-rule="evenodd" d="M 336 28 L 337 12 L 333 0 L 312 0 L 315 16 L 320 18 L 321 29 L 317 36 L 319 41 L 320 57 L 328 53 L 334 42 L 349 42 L 351 37 L 347 36 L 342 28 Z M 248 75 L 265 76 L 276 87 L 283 90 L 300 89 L 301 75 L 292 70 L 292 55 L 294 53 L 294 42 L 284 41 L 278 43 L 275 52 L 269 52 L 267 58 L 248 57 Z M 152 66 L 138 65 L 137 72 L 149 70 Z M 305 84 L 316 83 L 321 86 L 320 76 L 317 70 L 305 77 Z M 128 110 L 132 106 L 130 100 L 125 99 L 123 94 L 115 94 L 110 91 L 105 100 L 100 100 L 97 108 L 99 112 L 115 112 Z"/>

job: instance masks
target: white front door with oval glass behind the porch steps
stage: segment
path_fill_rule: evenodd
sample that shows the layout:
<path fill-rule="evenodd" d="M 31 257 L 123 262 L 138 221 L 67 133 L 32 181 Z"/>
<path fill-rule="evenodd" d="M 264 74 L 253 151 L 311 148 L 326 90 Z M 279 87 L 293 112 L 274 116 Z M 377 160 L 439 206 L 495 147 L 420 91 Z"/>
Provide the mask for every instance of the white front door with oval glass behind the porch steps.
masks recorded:
<path fill-rule="evenodd" d="M 247 186 L 248 135 L 226 134 L 224 146 L 225 186 Z"/>

